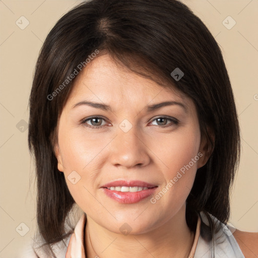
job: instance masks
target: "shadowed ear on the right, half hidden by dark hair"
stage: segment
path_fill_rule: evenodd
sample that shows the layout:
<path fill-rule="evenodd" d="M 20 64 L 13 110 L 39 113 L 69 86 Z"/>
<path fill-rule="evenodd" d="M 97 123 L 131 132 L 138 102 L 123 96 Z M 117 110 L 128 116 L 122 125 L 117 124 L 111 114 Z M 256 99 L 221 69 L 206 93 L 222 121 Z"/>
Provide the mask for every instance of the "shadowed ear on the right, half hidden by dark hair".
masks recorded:
<path fill-rule="evenodd" d="M 215 136 L 214 133 L 208 128 L 207 130 L 207 135 L 202 135 L 201 139 L 201 145 L 199 148 L 199 153 L 200 153 L 200 159 L 198 160 L 198 167 L 203 167 L 207 161 L 209 160 L 210 156 L 212 155 L 212 152 L 214 150 L 214 143 L 215 143 Z M 208 137 L 210 136 L 210 140 Z M 202 155 L 201 155 L 202 154 Z"/>

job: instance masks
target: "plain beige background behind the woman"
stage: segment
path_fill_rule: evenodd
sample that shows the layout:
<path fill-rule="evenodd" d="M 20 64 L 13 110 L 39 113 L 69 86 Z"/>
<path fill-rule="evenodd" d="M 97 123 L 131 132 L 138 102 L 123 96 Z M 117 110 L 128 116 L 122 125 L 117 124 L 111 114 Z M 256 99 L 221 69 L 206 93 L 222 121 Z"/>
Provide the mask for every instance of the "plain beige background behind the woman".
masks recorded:
<path fill-rule="evenodd" d="M 35 229 L 34 166 L 28 153 L 26 123 L 36 59 L 43 40 L 55 22 L 80 2 L 0 1 L 0 258 L 21 257 L 19 248 L 30 240 Z M 231 198 L 230 222 L 240 230 L 257 232 L 258 1 L 183 2 L 210 29 L 224 55 L 236 99 L 242 139 L 241 162 Z M 23 30 L 16 25 L 21 16 L 29 21 Z M 228 16 L 236 21 L 231 29 L 223 25 Z M 232 22 L 229 20 L 228 26 Z M 26 226 L 21 223 L 29 228 L 25 236 L 19 234 L 26 233 Z"/>

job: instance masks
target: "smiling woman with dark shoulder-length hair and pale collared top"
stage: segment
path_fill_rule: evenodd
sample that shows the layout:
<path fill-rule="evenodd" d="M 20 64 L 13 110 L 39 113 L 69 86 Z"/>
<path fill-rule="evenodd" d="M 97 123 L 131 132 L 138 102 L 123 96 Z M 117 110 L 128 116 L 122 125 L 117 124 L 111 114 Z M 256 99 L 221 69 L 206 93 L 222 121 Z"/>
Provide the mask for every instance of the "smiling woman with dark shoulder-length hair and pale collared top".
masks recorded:
<path fill-rule="evenodd" d="M 64 15 L 37 61 L 28 140 L 35 257 L 255 252 L 256 233 L 225 226 L 240 153 L 227 70 L 179 1 L 92 0 Z"/>

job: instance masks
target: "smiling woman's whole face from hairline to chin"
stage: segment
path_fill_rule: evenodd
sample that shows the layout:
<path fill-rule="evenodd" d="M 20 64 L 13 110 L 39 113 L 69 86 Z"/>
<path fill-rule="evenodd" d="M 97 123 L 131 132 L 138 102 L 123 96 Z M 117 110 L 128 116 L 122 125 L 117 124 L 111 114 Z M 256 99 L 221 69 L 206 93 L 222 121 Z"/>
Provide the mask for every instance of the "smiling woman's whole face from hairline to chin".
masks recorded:
<path fill-rule="evenodd" d="M 125 222 L 135 234 L 161 226 L 184 207 L 205 163 L 195 105 L 173 87 L 117 67 L 108 55 L 77 79 L 55 149 L 71 195 L 112 232 Z M 157 105 L 163 102 L 170 104 Z"/>

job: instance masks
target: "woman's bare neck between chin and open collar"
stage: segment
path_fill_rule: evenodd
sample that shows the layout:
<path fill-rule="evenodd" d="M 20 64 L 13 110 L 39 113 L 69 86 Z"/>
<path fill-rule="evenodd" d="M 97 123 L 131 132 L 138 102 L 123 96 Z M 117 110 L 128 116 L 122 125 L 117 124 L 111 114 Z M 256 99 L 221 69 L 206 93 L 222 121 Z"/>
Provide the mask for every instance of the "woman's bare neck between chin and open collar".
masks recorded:
<path fill-rule="evenodd" d="M 87 217 L 87 258 L 188 257 L 194 233 L 185 220 L 185 206 L 162 226 L 147 233 L 122 235 L 111 232 Z"/>

